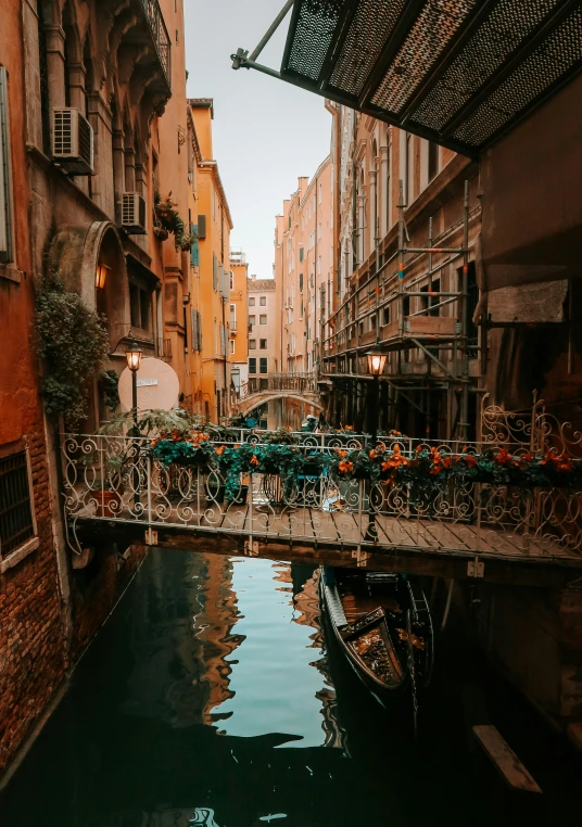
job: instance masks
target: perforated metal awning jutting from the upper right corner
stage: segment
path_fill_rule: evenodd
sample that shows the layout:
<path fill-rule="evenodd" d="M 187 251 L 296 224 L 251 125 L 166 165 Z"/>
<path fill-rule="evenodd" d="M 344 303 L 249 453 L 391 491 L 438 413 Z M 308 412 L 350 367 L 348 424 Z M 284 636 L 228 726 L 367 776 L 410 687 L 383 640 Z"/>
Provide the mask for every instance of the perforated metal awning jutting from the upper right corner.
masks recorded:
<path fill-rule="evenodd" d="M 281 71 L 256 58 L 292 8 Z M 256 68 L 477 155 L 582 68 L 580 0 L 289 0 Z"/>

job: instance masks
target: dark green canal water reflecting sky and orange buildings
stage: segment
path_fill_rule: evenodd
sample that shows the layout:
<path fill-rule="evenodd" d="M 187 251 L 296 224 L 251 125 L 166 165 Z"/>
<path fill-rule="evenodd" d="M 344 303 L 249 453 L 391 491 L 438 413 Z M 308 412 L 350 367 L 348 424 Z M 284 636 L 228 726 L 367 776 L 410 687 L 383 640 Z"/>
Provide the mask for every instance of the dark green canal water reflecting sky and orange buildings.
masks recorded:
<path fill-rule="evenodd" d="M 0 825 L 559 824 L 554 741 L 536 722 L 532 748 L 530 713 L 467 683 L 457 650 L 440 664 L 415 741 L 412 709 L 382 710 L 329 639 L 313 569 L 153 550 L 0 796 Z M 467 697 L 533 761 L 543 805 L 509 797 L 471 748 Z"/>

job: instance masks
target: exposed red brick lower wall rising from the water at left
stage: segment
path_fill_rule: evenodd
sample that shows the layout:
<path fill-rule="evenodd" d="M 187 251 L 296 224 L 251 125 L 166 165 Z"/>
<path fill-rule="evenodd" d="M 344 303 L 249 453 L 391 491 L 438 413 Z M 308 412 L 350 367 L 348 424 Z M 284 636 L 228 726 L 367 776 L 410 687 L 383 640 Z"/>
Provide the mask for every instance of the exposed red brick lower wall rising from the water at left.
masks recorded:
<path fill-rule="evenodd" d="M 0 788 L 46 723 L 46 711 L 147 555 L 114 543 L 91 548 L 85 563 L 66 561 L 63 596 L 51 527 L 43 446 L 30 446 L 45 499 L 36 502 L 38 546 L 0 569 Z M 75 564 L 77 568 L 75 568 Z"/>

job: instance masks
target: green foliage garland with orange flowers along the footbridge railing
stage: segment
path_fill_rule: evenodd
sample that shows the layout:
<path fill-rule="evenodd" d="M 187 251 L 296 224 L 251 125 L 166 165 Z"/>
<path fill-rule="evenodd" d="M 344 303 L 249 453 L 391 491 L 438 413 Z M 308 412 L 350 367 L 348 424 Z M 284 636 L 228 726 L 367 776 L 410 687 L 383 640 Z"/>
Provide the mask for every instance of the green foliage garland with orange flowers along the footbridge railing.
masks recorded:
<path fill-rule="evenodd" d="M 430 501 L 451 485 L 471 483 L 513 485 L 522 491 L 534 487 L 582 487 L 582 460 L 552 451 L 544 456 L 511 455 L 504 448 L 483 454 L 442 454 L 419 446 L 404 453 L 397 443 L 381 443 L 372 449 L 320 451 L 301 445 L 243 443 L 218 445 L 207 434 L 185 434 L 179 440 L 152 443 L 153 456 L 163 465 L 201 465 L 217 469 L 226 484 L 226 496 L 235 499 L 241 478 L 246 474 L 278 474 L 286 496 L 299 476 L 328 474 L 338 482 L 364 480 L 408 486 L 410 504 Z"/>

